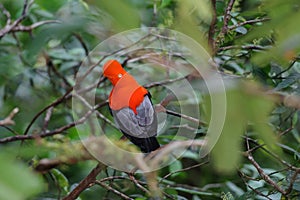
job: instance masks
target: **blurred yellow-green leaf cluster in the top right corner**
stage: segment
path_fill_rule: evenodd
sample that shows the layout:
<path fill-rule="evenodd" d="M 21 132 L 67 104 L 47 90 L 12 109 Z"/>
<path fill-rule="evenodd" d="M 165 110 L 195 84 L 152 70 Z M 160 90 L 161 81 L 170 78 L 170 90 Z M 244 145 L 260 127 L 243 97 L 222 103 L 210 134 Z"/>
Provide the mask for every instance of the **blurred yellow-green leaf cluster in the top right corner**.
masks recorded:
<path fill-rule="evenodd" d="M 299 6 L 299 1 L 290 0 L 282 3 L 282 0 L 266 0 L 260 8 L 263 12 L 268 13 L 272 19 L 264 22 L 263 26 L 255 27 L 244 37 L 238 40 L 239 44 L 253 41 L 257 38 L 276 37 L 276 45 L 268 50 L 267 53 L 256 54 L 252 57 L 252 61 L 259 65 L 265 65 L 271 60 L 276 60 L 286 64 L 292 57 L 299 52 L 300 28 L 297 25 L 300 12 L 294 10 Z"/>

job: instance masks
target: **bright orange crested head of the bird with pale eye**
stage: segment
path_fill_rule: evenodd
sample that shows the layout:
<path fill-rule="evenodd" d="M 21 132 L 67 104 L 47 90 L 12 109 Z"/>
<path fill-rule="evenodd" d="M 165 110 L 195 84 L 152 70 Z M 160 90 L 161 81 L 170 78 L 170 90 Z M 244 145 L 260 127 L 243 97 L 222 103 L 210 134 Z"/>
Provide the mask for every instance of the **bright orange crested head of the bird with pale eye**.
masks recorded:
<path fill-rule="evenodd" d="M 109 60 L 103 66 L 103 75 L 107 77 L 113 85 L 116 85 L 124 74 L 126 74 L 126 71 L 117 60 Z"/>

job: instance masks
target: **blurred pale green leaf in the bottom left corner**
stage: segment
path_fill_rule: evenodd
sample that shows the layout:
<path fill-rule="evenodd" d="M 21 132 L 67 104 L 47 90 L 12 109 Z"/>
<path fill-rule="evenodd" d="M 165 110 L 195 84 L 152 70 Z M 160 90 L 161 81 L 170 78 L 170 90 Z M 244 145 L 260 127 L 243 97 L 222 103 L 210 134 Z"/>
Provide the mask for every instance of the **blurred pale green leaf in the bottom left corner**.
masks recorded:
<path fill-rule="evenodd" d="M 42 179 L 28 166 L 0 154 L 0 199 L 23 200 L 43 190 Z"/>

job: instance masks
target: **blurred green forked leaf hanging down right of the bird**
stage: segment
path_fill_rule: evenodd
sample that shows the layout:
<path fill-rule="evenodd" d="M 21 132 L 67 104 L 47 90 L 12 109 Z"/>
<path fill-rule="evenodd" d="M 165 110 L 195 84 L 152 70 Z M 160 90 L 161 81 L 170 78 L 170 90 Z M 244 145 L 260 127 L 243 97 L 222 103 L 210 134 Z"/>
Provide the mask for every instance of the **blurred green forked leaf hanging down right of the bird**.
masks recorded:
<path fill-rule="evenodd" d="M 236 86 L 226 91 L 226 118 L 219 138 L 217 136 L 208 139 L 217 140 L 213 150 L 212 159 L 214 166 L 220 172 L 232 172 L 240 161 L 242 135 L 248 122 L 253 124 L 265 144 L 273 150 L 277 140 L 269 125 L 269 114 L 274 107 L 271 99 L 260 92 L 260 88 L 253 83 L 236 82 Z"/>

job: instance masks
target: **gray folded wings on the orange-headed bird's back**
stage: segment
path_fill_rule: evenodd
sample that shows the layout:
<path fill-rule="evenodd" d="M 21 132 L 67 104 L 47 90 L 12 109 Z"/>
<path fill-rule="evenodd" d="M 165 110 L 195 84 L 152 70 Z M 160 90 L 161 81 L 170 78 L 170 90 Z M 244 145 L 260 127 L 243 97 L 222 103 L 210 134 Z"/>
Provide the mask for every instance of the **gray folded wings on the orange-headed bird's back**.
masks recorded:
<path fill-rule="evenodd" d="M 136 110 L 137 115 L 130 108 L 113 111 L 119 128 L 134 137 L 148 138 L 155 136 L 157 134 L 156 113 L 148 96 L 145 96 Z"/>

